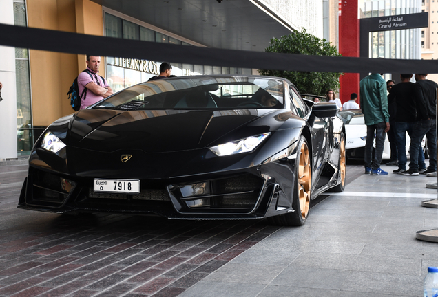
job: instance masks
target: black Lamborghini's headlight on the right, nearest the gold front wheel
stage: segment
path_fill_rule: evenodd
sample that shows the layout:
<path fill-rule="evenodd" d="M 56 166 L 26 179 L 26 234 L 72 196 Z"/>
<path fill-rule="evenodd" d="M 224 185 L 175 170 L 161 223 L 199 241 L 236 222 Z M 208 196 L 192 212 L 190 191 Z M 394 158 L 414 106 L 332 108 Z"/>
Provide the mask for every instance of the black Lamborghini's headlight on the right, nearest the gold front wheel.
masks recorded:
<path fill-rule="evenodd" d="M 234 155 L 237 153 L 247 153 L 253 151 L 254 148 L 256 148 L 269 136 L 269 134 L 271 133 L 263 133 L 260 135 L 250 136 L 242 140 L 219 144 L 218 146 L 211 147 L 210 150 L 220 157 Z"/>

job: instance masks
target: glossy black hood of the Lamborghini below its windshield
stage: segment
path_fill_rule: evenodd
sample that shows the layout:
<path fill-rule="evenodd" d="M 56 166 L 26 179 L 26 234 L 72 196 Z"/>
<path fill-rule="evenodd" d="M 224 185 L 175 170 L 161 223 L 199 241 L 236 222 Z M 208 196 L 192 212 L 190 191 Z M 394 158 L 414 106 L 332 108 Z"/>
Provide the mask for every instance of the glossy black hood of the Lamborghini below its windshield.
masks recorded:
<path fill-rule="evenodd" d="M 140 148 L 146 153 L 205 148 L 221 138 L 224 141 L 238 140 L 240 136 L 246 137 L 269 131 L 269 126 L 266 126 L 265 122 L 263 126 L 251 124 L 249 127 L 250 122 L 263 118 L 267 113 L 273 113 L 273 110 L 84 109 L 76 113 L 72 121 L 70 146 L 104 152 Z M 240 133 L 230 135 L 231 131 L 236 130 Z"/>

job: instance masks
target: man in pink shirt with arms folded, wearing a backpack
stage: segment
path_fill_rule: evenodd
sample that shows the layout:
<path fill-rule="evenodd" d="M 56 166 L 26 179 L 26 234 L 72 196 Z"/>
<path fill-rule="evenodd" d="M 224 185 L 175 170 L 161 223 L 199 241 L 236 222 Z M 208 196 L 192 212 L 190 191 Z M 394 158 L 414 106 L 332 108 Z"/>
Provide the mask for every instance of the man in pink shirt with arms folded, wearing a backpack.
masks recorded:
<path fill-rule="evenodd" d="M 81 72 L 78 76 L 79 94 L 83 94 L 81 96 L 81 109 L 85 109 L 85 107 L 114 93 L 107 80 L 98 75 L 101 57 L 87 55 L 86 63 L 86 71 Z M 85 92 L 83 92 L 84 88 L 86 89 Z"/>

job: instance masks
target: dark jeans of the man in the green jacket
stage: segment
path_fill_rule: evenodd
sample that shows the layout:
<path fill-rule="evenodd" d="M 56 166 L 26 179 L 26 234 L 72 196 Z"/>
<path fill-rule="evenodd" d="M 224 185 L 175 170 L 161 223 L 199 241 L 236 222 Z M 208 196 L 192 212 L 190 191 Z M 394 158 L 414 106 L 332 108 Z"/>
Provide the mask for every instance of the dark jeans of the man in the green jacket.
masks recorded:
<path fill-rule="evenodd" d="M 365 166 L 373 170 L 380 168 L 380 162 L 382 162 L 383 146 L 385 142 L 385 122 L 379 122 L 378 124 L 367 125 L 366 126 L 366 143 L 365 143 L 365 155 L 364 161 Z M 373 157 L 373 142 L 375 135 L 375 152 L 374 159 L 371 163 L 371 158 Z"/>

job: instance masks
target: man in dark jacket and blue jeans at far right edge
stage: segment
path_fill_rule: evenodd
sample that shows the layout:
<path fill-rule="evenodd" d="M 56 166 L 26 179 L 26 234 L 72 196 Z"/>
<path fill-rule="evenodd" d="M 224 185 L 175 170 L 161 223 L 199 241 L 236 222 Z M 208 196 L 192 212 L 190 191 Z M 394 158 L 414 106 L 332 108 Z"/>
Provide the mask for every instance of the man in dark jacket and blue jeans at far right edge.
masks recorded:
<path fill-rule="evenodd" d="M 426 79 L 427 74 L 415 74 L 415 105 L 417 121 L 413 124 L 413 135 L 410 138 L 409 170 L 402 175 L 418 175 L 418 151 L 421 141 L 426 135 L 429 149 L 429 167 L 424 174 L 437 171 L 437 83 Z"/>

